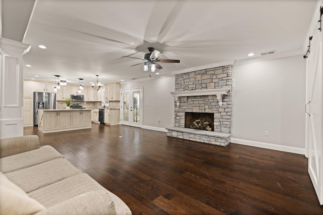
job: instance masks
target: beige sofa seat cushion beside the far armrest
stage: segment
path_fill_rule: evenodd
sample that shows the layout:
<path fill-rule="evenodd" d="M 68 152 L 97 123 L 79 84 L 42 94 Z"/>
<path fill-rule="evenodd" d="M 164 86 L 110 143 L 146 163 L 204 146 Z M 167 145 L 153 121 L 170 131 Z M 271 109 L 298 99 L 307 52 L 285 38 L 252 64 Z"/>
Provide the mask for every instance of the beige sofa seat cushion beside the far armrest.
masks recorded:
<path fill-rule="evenodd" d="M 38 149 L 0 158 L 0 171 L 9 173 L 61 157 L 64 156 L 55 148 L 45 145 Z"/>

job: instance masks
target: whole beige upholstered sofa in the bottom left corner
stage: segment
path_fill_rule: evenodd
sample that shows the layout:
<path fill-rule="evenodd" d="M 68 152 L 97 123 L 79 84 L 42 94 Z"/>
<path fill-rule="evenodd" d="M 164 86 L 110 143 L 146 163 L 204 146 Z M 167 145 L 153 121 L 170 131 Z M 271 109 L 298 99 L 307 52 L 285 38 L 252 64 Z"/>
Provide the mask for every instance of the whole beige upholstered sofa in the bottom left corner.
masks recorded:
<path fill-rule="evenodd" d="M 0 214 L 131 214 L 38 136 L 0 140 Z"/>

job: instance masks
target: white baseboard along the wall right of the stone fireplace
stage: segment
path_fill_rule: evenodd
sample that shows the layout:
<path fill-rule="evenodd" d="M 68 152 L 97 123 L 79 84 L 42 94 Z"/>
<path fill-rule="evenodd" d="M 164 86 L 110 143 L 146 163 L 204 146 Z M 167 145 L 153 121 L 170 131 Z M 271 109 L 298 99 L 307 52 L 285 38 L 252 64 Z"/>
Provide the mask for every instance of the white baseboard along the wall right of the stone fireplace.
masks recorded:
<path fill-rule="evenodd" d="M 243 140 L 243 139 L 237 139 L 237 138 L 231 138 L 231 142 L 241 144 L 241 145 L 249 145 L 249 146 L 255 146 L 255 147 L 259 147 L 259 148 L 266 148 L 266 149 L 273 149 L 273 150 L 284 151 L 284 152 L 291 152 L 291 153 L 295 153 L 295 154 L 305 154 L 305 148 L 277 145 L 277 144 L 273 144 L 273 143 L 256 142 L 256 141 L 252 141 L 252 140 Z"/>

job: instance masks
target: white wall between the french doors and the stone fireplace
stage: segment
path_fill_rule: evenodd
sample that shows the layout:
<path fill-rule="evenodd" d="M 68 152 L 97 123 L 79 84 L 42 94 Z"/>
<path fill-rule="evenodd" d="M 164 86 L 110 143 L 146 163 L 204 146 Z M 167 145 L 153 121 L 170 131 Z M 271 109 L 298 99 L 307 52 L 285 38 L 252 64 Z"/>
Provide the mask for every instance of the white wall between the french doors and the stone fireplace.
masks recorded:
<path fill-rule="evenodd" d="M 167 132 L 174 126 L 174 82 L 175 76 L 121 83 L 121 89 L 143 86 L 143 128 Z"/>

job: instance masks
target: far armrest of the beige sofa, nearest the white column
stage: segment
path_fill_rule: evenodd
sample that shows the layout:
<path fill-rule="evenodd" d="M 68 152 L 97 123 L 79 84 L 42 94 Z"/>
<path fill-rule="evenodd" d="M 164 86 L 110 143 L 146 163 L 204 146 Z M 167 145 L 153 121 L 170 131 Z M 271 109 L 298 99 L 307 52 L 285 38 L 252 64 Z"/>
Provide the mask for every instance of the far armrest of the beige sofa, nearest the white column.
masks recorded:
<path fill-rule="evenodd" d="M 0 139 L 0 158 L 39 148 L 37 135 Z"/>

